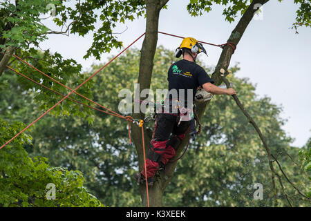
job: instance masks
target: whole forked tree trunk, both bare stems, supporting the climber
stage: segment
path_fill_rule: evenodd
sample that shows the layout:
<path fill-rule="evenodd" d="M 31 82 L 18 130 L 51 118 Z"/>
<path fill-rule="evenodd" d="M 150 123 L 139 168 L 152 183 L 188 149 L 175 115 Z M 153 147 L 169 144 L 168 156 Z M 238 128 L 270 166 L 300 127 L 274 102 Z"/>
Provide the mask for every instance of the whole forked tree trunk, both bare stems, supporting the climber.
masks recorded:
<path fill-rule="evenodd" d="M 254 0 L 249 5 L 243 16 L 241 17 L 240 21 L 236 25 L 236 28 L 232 31 L 228 42 L 232 42 L 233 44 L 237 45 L 238 42 L 241 40 L 245 29 L 249 25 L 250 21 L 254 17 L 254 13 L 258 10 L 256 4 L 264 5 L 269 0 Z M 140 73 L 138 78 L 138 83 L 140 83 L 140 91 L 144 88 L 150 88 L 151 84 L 151 76 L 152 76 L 152 68 L 153 68 L 153 58 L 156 52 L 156 42 L 158 40 L 158 19 L 160 9 L 157 8 L 159 1 L 147 1 L 147 24 L 146 24 L 146 36 L 144 39 L 144 43 L 142 45 L 141 57 L 140 57 Z M 164 6 L 164 5 L 163 5 Z M 230 60 L 233 54 L 233 49 L 230 46 L 225 46 L 223 48 L 223 52 L 218 59 L 218 64 L 212 74 L 211 78 L 215 81 L 216 85 L 221 84 L 222 78 L 220 69 L 225 70 L 225 75 L 227 75 L 227 68 L 229 67 Z M 140 93 L 139 91 L 139 93 Z M 145 98 L 143 98 L 145 99 Z M 210 102 L 210 101 L 209 101 Z M 209 102 L 205 104 L 197 104 L 198 106 L 198 117 L 201 118 L 205 112 L 205 109 Z M 143 114 L 133 114 L 135 119 L 143 119 Z M 142 133 L 140 132 L 140 128 L 137 126 L 132 127 L 133 130 L 133 140 L 135 142 L 136 151 L 138 153 L 138 160 L 139 160 L 139 167 L 142 170 L 142 166 L 144 166 L 144 155 L 142 153 Z M 150 142 L 151 135 L 146 134 L 144 136 L 146 152 L 149 149 L 149 142 Z M 185 140 L 180 144 L 177 150 L 177 156 L 182 152 L 182 150 L 187 145 L 189 139 L 189 135 L 185 137 Z M 177 157 L 176 156 L 176 157 Z M 149 187 L 149 204 L 150 206 L 162 206 L 162 199 L 164 190 L 166 189 L 167 185 L 171 181 L 173 177 L 173 173 L 176 169 L 177 162 L 168 163 L 165 166 L 165 171 L 160 172 L 160 177 L 157 177 L 156 182 L 153 186 Z M 272 182 L 274 180 L 272 179 Z M 143 206 L 147 205 L 147 192 L 146 186 L 140 186 L 140 193 L 142 196 L 142 204 Z"/>

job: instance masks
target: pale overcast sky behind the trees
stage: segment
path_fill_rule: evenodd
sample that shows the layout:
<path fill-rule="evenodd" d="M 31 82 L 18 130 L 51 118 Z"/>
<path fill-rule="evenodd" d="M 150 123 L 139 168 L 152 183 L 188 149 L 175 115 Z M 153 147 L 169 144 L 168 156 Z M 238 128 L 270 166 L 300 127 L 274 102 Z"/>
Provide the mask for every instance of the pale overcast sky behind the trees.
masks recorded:
<path fill-rule="evenodd" d="M 228 23 L 222 15 L 222 6 L 213 6 L 213 10 L 202 17 L 191 17 L 186 10 L 188 2 L 189 0 L 170 0 L 168 10 L 160 13 L 159 30 L 214 44 L 225 43 L 240 17 L 234 23 Z M 294 30 L 289 29 L 294 23 L 296 10 L 293 0 L 281 3 L 271 0 L 265 4 L 262 14 L 247 27 L 232 56 L 231 66 L 239 62 L 241 70 L 236 76 L 248 77 L 252 84 L 256 84 L 259 97 L 267 95 L 271 97 L 273 104 L 283 106 L 281 117 L 288 119 L 283 129 L 295 139 L 293 145 L 300 147 L 311 137 L 311 30 L 300 28 L 299 35 L 296 35 Z M 125 25 L 118 25 L 115 32 L 122 32 L 126 26 L 127 30 L 117 35 L 124 46 L 131 44 L 144 32 L 145 20 L 140 18 L 133 22 L 126 21 Z M 82 64 L 84 70 L 93 63 L 106 62 L 107 57 L 120 52 L 113 50 L 109 55 L 102 55 L 101 61 L 95 61 L 94 58 L 85 60 L 83 56 L 90 48 L 92 39 L 93 35 L 50 35 L 40 46 L 44 50 L 50 48 L 66 58 L 75 59 Z M 141 47 L 142 39 L 135 43 L 136 48 Z M 171 50 L 175 50 L 180 42 L 181 39 L 174 37 L 160 34 L 158 37 L 158 45 Z M 207 65 L 215 66 L 221 49 L 213 46 L 205 46 L 205 49 L 209 57 L 199 55 L 200 59 Z"/>

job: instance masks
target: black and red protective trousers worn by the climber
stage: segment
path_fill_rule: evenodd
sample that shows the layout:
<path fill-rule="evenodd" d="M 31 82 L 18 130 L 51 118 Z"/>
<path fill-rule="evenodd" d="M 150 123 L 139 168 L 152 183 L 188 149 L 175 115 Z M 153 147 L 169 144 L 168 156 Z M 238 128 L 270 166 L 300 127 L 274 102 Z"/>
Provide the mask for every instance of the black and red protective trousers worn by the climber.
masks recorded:
<path fill-rule="evenodd" d="M 153 140 L 146 159 L 147 177 L 153 177 L 158 171 L 159 164 L 167 164 L 169 160 L 176 156 L 176 148 L 185 139 L 185 133 L 190 123 L 180 122 L 178 116 L 167 113 L 160 113 L 156 116 Z M 145 175 L 144 168 L 142 175 Z"/>

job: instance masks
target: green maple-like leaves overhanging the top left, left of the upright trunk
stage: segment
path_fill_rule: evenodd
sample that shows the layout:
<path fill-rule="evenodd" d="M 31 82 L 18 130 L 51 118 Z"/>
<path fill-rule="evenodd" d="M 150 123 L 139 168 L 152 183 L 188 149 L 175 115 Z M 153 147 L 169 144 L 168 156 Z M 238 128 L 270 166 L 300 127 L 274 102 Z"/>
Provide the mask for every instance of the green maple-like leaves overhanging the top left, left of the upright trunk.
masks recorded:
<path fill-rule="evenodd" d="M 102 52 L 110 52 L 111 48 L 120 48 L 121 41 L 113 33 L 117 23 L 124 23 L 144 14 L 144 1 L 70 1 L 70 0 L 19 0 L 15 3 L 3 1 L 0 26 L 10 23 L 8 30 L 3 30 L 1 37 L 7 39 L 6 45 L 28 49 L 31 44 L 39 46 L 39 42 L 47 39 L 48 34 L 69 33 L 84 36 L 93 32 L 93 44 L 85 58 L 91 55 L 100 59 Z M 44 23 L 47 14 L 61 31 L 50 30 Z M 101 26 L 97 24 L 100 23 Z M 68 30 L 65 30 L 66 28 Z"/>

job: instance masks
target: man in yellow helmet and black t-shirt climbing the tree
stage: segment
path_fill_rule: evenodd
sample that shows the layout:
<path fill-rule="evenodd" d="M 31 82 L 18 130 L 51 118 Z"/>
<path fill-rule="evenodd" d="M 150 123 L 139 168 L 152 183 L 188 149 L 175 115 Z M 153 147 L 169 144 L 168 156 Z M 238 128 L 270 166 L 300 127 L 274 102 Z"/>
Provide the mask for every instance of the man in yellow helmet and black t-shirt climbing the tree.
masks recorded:
<path fill-rule="evenodd" d="M 184 110 L 183 113 L 187 110 L 188 115 L 191 113 L 189 110 L 192 110 L 197 88 L 201 86 L 208 93 L 214 95 L 236 94 L 233 88 L 225 89 L 214 85 L 214 81 L 205 70 L 196 64 L 196 57 L 200 52 L 207 54 L 202 44 L 191 37 L 183 39 L 180 47 L 176 49 L 175 56 L 180 57 L 182 55 L 183 59 L 173 63 L 169 68 L 167 78 L 169 93 L 164 101 L 165 111 L 162 110 L 161 113 L 157 111 L 153 139 L 145 162 L 149 185 L 153 184 L 153 177 L 158 169 L 163 169 L 164 165 L 176 155 L 180 142 L 186 136 L 190 121 L 189 117 L 185 118 L 185 114 L 183 114 L 184 119 L 182 119 L 181 113 L 182 110 Z M 177 91 L 177 98 L 171 96 L 173 94 L 171 92 L 174 90 Z M 183 95 L 180 93 L 181 91 L 183 91 Z M 187 99 L 185 99 L 186 97 Z M 144 183 L 144 175 L 143 169 L 141 173 L 135 173 L 134 179 L 138 183 Z"/>

